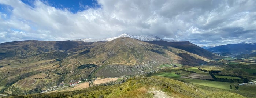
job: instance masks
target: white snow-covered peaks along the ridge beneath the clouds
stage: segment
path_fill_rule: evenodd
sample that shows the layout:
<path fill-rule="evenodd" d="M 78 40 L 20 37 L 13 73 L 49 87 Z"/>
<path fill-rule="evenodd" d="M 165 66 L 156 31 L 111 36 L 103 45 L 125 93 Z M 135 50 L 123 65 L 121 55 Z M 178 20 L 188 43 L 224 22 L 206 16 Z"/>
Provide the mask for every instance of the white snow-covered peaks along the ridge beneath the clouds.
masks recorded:
<path fill-rule="evenodd" d="M 134 35 L 129 35 L 129 34 L 122 34 L 118 37 L 112 37 L 112 38 L 85 38 L 85 39 L 78 39 L 77 41 L 84 41 L 84 42 L 97 42 L 97 41 L 112 41 L 116 38 L 120 38 L 120 37 L 129 37 L 129 38 L 133 38 L 133 39 L 138 39 L 140 41 L 161 41 L 162 39 L 160 39 L 157 36 L 154 35 L 140 35 L 140 36 L 134 36 Z"/>

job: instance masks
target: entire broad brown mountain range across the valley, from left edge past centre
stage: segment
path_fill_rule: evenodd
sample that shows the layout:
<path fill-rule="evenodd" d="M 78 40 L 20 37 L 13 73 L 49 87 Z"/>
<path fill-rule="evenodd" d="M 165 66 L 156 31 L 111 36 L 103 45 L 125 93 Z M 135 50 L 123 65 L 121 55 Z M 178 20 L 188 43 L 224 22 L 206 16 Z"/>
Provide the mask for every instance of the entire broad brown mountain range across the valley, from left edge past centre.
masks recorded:
<path fill-rule="evenodd" d="M 62 81 L 153 72 L 162 64 L 201 65 L 216 57 L 190 42 L 174 45 L 129 37 L 99 42 L 8 42 L 0 44 L 0 54 L 1 93 L 14 95 L 41 92 Z"/>

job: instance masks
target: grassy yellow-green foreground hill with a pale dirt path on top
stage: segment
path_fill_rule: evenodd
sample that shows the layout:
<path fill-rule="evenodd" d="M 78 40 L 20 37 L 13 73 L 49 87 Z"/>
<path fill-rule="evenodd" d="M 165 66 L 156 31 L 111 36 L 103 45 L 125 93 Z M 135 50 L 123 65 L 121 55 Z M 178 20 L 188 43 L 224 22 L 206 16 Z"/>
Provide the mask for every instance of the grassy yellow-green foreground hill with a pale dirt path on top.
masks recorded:
<path fill-rule="evenodd" d="M 216 89 L 216 88 L 214 88 Z M 122 85 L 94 86 L 71 92 L 54 92 L 14 96 L 25 98 L 244 98 L 229 91 L 209 91 L 194 84 L 173 79 L 152 77 L 133 77 Z"/>

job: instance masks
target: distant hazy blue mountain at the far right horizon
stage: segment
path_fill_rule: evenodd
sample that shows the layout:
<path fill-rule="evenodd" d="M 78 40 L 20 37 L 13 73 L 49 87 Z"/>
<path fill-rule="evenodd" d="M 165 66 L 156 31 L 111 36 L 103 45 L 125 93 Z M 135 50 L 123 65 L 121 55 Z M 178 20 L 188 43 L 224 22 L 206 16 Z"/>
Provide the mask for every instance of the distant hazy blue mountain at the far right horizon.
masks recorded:
<path fill-rule="evenodd" d="M 215 46 L 207 50 L 211 52 L 221 52 L 221 53 L 255 54 L 256 44 L 242 42 L 238 44 L 227 44 L 227 45 Z"/>

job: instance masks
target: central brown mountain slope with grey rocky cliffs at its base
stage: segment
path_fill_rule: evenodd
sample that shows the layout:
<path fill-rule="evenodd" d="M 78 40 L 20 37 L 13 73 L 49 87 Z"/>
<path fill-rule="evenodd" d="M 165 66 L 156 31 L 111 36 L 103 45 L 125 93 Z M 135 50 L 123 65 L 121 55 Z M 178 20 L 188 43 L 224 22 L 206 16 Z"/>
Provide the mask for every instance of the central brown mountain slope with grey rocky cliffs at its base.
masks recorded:
<path fill-rule="evenodd" d="M 85 50 L 75 56 L 81 63 L 102 66 L 98 76 L 123 76 L 156 70 L 161 64 L 200 65 L 209 60 L 171 46 L 159 46 L 122 37 Z M 128 65 L 128 66 L 127 66 Z"/>

